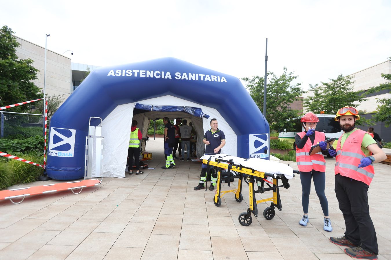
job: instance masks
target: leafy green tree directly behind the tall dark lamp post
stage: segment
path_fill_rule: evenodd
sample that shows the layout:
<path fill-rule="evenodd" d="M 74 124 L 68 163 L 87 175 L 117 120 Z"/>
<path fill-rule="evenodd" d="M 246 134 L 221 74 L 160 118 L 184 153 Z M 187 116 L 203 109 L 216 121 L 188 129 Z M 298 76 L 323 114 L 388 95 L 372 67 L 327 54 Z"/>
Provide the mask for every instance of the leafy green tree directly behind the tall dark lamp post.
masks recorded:
<path fill-rule="evenodd" d="M 294 126 L 289 120 L 301 113 L 293 110 L 291 104 L 297 101 L 305 91 L 300 87 L 301 83 L 292 84 L 297 78 L 293 73 L 287 73 L 287 68 L 283 68 L 283 74 L 276 76 L 274 73 L 267 73 L 268 84 L 266 91 L 266 119 L 271 130 L 282 132 Z M 254 76 L 253 78 L 242 78 L 246 82 L 246 88 L 250 96 L 255 101 L 258 108 L 263 111 L 264 104 L 264 78 Z"/>

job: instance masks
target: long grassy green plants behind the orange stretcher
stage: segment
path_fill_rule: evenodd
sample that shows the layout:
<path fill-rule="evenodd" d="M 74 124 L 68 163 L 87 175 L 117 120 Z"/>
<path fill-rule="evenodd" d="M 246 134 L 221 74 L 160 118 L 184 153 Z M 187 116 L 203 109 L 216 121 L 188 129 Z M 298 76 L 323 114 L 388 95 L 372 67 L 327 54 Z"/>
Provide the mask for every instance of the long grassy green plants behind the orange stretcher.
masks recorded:
<path fill-rule="evenodd" d="M 43 154 L 40 150 L 31 150 L 27 153 L 14 153 L 14 156 L 43 164 Z M 34 182 L 43 173 L 43 168 L 14 159 L 0 160 L 0 189 L 7 189 L 19 183 Z"/>

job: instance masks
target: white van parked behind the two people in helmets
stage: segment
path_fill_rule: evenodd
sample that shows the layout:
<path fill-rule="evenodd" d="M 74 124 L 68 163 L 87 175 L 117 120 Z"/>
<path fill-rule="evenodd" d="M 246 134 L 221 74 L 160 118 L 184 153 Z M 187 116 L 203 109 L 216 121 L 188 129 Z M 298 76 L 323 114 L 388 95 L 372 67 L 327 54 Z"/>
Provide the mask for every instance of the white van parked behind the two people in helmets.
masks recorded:
<path fill-rule="evenodd" d="M 319 118 L 319 122 L 316 124 L 315 130 L 325 133 L 327 138 L 335 137 L 335 139 L 338 140 L 343 131 L 339 126 L 338 121 L 334 121 L 335 115 L 317 114 L 316 116 Z M 296 124 L 293 129 L 286 129 L 287 132 L 281 132 L 280 134 L 278 134 L 278 138 L 280 140 L 290 141 L 292 145 L 294 145 L 294 138 L 296 134 L 304 131 L 300 119 L 301 117 L 293 119 L 294 123 Z M 334 144 L 335 148 L 337 143 L 335 142 Z M 294 146 L 294 148 L 296 149 L 296 146 Z"/>

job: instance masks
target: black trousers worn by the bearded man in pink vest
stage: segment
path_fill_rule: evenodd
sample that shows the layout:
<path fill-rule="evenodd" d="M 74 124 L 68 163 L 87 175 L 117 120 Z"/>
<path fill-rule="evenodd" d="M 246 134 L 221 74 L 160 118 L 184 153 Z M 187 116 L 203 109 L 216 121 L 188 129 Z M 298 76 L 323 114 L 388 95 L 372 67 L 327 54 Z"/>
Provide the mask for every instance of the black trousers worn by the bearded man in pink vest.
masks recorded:
<path fill-rule="evenodd" d="M 345 219 L 345 237 L 377 255 L 379 249 L 375 227 L 369 216 L 368 188 L 367 184 L 359 180 L 335 175 L 334 190 Z"/>

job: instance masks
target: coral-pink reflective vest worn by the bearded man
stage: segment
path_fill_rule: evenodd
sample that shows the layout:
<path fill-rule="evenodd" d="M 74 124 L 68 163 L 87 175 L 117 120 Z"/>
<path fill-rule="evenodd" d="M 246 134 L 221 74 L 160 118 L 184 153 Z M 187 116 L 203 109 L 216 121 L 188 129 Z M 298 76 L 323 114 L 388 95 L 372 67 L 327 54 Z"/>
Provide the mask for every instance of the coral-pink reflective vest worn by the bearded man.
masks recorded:
<path fill-rule="evenodd" d="M 375 176 L 375 169 L 373 163 L 364 168 L 358 168 L 360 160 L 366 155 L 361 150 L 362 139 L 366 131 L 361 129 L 355 130 L 350 134 L 341 148 L 342 136 L 338 139 L 337 156 L 335 157 L 334 173 L 341 174 L 345 177 L 352 178 L 364 182 L 369 186 L 373 177 Z M 373 137 L 373 134 L 368 133 Z M 343 135 L 343 134 L 342 134 Z"/>

